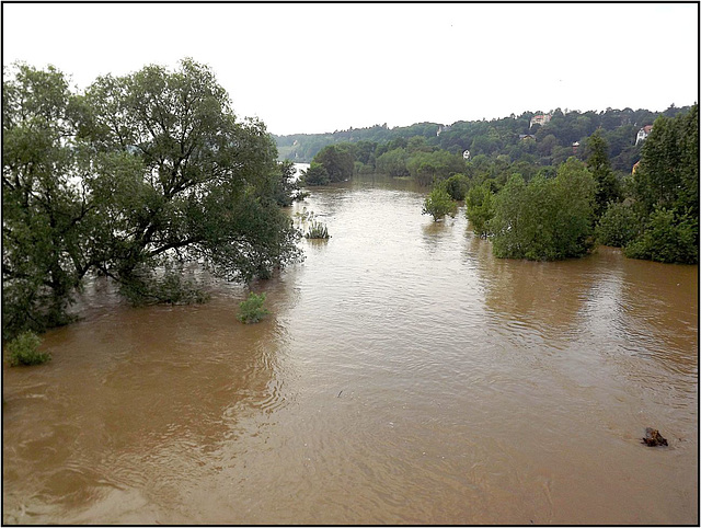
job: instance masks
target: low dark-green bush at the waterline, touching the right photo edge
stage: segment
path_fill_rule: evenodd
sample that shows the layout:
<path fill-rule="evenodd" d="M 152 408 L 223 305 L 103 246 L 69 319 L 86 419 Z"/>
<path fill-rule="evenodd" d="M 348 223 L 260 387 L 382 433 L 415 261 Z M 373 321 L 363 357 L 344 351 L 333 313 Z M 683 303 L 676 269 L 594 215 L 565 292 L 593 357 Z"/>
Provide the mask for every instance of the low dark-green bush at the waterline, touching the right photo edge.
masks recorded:
<path fill-rule="evenodd" d="M 699 219 L 657 208 L 645 231 L 624 249 L 625 256 L 657 262 L 699 263 Z"/>

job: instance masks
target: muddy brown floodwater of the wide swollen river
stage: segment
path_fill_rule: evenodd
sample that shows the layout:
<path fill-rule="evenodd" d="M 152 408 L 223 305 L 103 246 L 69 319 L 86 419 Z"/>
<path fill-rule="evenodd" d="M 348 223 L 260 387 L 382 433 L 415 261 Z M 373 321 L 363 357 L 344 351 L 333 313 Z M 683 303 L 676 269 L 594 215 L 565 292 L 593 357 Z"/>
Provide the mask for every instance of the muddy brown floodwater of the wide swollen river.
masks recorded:
<path fill-rule="evenodd" d="M 497 260 L 422 202 L 314 190 L 258 324 L 95 283 L 3 365 L 3 523 L 698 524 L 698 266 Z"/>

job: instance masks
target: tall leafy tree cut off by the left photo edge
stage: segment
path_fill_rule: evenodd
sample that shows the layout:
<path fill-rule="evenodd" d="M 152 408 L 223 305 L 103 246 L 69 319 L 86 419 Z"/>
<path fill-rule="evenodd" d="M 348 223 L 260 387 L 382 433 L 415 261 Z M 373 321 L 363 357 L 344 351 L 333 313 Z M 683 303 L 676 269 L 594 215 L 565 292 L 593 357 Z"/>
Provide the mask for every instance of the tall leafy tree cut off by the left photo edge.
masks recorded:
<path fill-rule="evenodd" d="M 100 238 L 77 141 L 79 101 L 49 67 L 14 65 L 2 83 L 3 336 L 69 319 L 66 309 L 93 264 Z"/>

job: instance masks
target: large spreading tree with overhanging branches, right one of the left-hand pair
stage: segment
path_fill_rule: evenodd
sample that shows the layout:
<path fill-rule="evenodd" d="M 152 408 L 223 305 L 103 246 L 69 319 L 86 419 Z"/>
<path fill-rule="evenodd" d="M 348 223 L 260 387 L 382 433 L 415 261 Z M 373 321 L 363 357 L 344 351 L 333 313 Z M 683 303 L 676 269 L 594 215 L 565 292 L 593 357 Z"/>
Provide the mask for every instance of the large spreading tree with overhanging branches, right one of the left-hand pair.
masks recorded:
<path fill-rule="evenodd" d="M 276 147 L 262 123 L 235 118 L 207 67 L 102 77 L 85 100 L 99 168 L 90 184 L 111 223 L 103 272 L 138 285 L 164 261 L 202 260 L 249 280 L 296 255 Z"/>

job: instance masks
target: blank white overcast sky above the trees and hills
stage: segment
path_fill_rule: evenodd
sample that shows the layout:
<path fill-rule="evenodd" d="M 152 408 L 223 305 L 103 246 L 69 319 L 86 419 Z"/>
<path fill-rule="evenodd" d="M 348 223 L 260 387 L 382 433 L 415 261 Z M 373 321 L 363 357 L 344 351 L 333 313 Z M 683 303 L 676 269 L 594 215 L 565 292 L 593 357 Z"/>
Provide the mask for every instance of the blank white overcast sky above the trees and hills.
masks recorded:
<path fill-rule="evenodd" d="M 273 134 L 663 111 L 699 93 L 696 3 L 4 3 L 2 59 L 97 76 L 184 57 Z"/>

